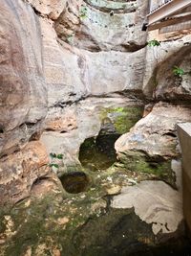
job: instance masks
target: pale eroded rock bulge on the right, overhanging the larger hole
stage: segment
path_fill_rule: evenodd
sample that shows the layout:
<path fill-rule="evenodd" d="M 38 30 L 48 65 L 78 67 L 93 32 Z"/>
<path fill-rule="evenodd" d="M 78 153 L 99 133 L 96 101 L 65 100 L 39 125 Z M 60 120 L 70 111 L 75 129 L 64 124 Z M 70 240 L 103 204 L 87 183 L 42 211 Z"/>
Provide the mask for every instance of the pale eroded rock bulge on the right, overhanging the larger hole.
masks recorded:
<path fill-rule="evenodd" d="M 117 140 L 117 152 L 120 154 L 123 151 L 144 151 L 150 156 L 178 156 L 180 152 L 177 149 L 176 124 L 191 121 L 190 111 L 190 107 L 186 105 L 155 105 L 129 133 Z"/>

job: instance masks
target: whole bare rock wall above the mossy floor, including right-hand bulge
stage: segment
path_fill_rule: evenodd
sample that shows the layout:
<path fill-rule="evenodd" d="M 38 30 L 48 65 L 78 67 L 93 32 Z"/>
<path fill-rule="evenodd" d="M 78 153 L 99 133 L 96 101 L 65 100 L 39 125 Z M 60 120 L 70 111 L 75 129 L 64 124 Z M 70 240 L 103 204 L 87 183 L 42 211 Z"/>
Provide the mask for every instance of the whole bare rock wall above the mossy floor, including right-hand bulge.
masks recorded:
<path fill-rule="evenodd" d="M 148 1 L 1 4 L 1 204 L 30 197 L 40 178 L 53 175 L 50 152 L 79 165 L 80 144 L 98 134 L 102 107 L 150 101 L 146 117 L 118 139 L 119 159 L 131 151 L 180 157 L 176 124 L 191 121 L 189 32 L 149 47 L 161 35 L 141 32 Z"/>

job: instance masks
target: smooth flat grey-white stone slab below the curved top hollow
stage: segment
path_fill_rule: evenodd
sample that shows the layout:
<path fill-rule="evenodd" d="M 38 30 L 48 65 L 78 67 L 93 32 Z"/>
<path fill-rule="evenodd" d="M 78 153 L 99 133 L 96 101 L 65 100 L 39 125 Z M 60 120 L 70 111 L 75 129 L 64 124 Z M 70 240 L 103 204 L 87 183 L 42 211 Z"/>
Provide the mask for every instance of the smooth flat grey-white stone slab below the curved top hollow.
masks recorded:
<path fill-rule="evenodd" d="M 93 95 L 141 90 L 145 49 L 136 53 L 87 53 L 90 92 Z"/>

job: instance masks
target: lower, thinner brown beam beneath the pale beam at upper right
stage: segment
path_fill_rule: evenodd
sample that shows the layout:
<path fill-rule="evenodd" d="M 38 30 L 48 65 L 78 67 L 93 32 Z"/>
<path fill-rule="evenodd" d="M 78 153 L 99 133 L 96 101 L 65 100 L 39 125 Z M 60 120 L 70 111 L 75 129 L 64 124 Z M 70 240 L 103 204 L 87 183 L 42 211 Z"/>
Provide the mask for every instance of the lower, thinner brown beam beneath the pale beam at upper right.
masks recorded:
<path fill-rule="evenodd" d="M 148 26 L 148 31 L 159 30 L 163 27 L 176 25 L 176 24 L 186 22 L 186 21 L 191 21 L 191 14 L 188 14 L 185 16 L 180 16 L 180 17 L 175 17 L 175 18 L 172 17 L 167 20 L 160 21 L 159 23 L 155 23 L 153 25 Z"/>

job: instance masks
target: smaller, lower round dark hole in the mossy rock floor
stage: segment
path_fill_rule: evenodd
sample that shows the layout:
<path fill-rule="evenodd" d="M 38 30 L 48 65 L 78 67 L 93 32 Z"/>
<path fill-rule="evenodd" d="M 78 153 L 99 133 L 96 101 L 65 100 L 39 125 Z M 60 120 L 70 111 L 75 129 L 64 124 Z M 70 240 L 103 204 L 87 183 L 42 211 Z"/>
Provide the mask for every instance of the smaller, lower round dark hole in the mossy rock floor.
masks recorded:
<path fill-rule="evenodd" d="M 73 172 L 62 175 L 60 181 L 64 189 L 71 194 L 77 194 L 86 191 L 89 185 L 89 178 L 83 172 Z"/>

